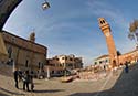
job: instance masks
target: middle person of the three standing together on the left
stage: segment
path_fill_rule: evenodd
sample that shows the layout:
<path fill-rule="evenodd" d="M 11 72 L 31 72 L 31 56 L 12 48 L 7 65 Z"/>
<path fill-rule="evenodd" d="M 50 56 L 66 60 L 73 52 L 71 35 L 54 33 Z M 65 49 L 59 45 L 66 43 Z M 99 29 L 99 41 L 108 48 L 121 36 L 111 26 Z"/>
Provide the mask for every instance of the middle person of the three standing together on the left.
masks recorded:
<path fill-rule="evenodd" d="M 29 83 L 30 83 L 30 74 L 29 74 L 29 71 L 25 71 L 24 74 L 23 74 L 23 90 L 25 90 L 25 87 L 26 87 L 26 90 L 30 92 L 29 89 Z"/>

